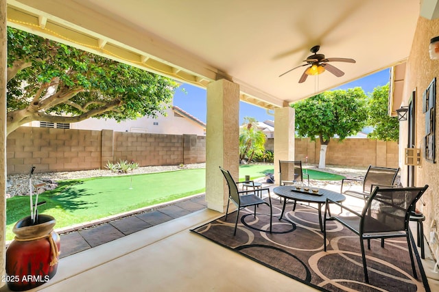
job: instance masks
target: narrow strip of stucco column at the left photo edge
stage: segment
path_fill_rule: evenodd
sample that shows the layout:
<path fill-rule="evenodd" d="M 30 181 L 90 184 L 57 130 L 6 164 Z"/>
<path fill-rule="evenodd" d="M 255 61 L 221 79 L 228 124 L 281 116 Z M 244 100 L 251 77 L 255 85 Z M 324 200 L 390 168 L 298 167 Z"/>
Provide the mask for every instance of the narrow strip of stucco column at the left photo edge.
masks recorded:
<path fill-rule="evenodd" d="M 0 276 L 3 276 L 6 254 L 6 69 L 8 68 L 6 1 L 0 1 L 0 34 Z M 4 284 L 5 282 L 1 281 L 0 287 Z"/>

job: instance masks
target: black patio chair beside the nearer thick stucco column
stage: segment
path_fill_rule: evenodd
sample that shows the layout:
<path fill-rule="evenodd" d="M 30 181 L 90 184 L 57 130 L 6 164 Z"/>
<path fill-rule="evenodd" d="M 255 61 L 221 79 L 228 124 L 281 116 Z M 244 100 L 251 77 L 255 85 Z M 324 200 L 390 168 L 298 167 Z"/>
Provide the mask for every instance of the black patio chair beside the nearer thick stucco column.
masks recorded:
<path fill-rule="evenodd" d="M 235 204 L 237 207 L 237 214 L 236 214 L 236 222 L 235 222 L 235 232 L 233 235 L 236 235 L 236 230 L 238 226 L 238 218 L 239 218 L 239 211 L 241 209 L 244 209 L 246 207 L 254 206 L 254 217 L 256 217 L 256 207 L 259 204 L 267 204 L 268 207 L 270 207 L 270 233 L 272 232 L 272 198 L 270 196 L 270 189 L 268 188 L 262 188 L 258 189 L 257 191 L 260 191 L 262 194 L 262 191 L 268 191 L 268 201 L 265 202 L 262 198 L 259 198 L 257 194 L 254 193 L 254 190 L 246 190 L 246 191 L 238 191 L 238 187 L 235 183 L 235 181 L 232 178 L 232 175 L 228 170 L 224 170 L 224 168 L 219 167 L 219 170 L 221 170 L 222 174 L 224 175 L 224 178 L 226 178 L 226 182 L 228 185 L 228 199 Z M 226 209 L 226 220 L 228 215 L 228 204 Z"/>

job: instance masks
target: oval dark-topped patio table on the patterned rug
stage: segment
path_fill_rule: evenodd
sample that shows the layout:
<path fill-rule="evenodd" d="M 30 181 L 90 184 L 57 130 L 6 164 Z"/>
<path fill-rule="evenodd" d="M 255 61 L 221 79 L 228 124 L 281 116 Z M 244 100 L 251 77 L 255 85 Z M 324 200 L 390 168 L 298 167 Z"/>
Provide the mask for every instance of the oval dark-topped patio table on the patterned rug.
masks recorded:
<path fill-rule="evenodd" d="M 309 202 L 318 204 L 318 223 L 322 232 L 322 204 L 326 204 L 327 198 L 333 200 L 334 202 L 343 202 L 344 200 L 346 200 L 346 196 L 344 196 L 343 194 L 337 193 L 336 191 L 330 191 L 329 189 L 318 189 L 318 194 L 314 194 L 311 191 L 303 191 L 302 189 L 298 190 L 296 189 L 296 187 L 294 187 L 294 185 L 283 185 L 281 187 L 275 187 L 273 191 L 274 194 L 284 199 L 279 220 L 282 219 L 283 213 L 285 212 L 285 206 L 287 204 L 286 199 L 296 200 L 298 202 Z"/>

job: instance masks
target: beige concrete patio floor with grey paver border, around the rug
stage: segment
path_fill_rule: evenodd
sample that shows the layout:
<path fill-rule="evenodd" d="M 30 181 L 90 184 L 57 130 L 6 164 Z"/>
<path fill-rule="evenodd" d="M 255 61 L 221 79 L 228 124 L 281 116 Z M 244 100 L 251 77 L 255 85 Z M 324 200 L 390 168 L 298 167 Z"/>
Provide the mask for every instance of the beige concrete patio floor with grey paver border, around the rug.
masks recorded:
<path fill-rule="evenodd" d="M 194 196 L 61 235 L 57 274 L 30 291 L 316 291 L 189 232 L 222 215 L 205 206 L 204 195 Z M 428 275 L 434 263 L 425 246 Z M 439 291 L 439 281 L 429 284 Z"/>

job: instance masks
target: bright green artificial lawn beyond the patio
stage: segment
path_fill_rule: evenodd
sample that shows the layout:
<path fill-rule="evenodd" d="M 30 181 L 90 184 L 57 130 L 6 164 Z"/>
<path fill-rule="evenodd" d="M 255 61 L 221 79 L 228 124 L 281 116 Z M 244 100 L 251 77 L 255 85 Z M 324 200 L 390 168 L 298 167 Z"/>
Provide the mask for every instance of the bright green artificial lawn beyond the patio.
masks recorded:
<path fill-rule="evenodd" d="M 307 171 L 311 179 L 343 178 Z M 243 181 L 246 175 L 255 179 L 273 172 L 272 165 L 240 165 L 239 180 Z M 200 168 L 60 181 L 56 189 L 40 194 L 38 201 L 46 204 L 38 207 L 38 211 L 54 216 L 56 228 L 61 228 L 200 194 L 205 191 L 205 180 L 206 170 Z M 28 196 L 6 200 L 6 240 L 14 238 L 12 227 L 26 216 L 29 216 Z"/>

